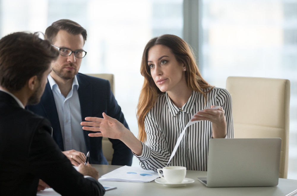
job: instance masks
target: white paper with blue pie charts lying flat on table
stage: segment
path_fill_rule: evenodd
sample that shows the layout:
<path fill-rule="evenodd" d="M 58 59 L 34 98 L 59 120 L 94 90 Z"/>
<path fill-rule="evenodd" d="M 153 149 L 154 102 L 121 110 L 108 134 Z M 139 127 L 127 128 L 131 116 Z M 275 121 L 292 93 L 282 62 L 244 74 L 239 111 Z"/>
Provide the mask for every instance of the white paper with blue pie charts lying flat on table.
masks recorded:
<path fill-rule="evenodd" d="M 123 166 L 103 175 L 99 180 L 126 181 L 126 182 L 150 182 L 158 178 L 158 173 L 144 170 L 141 167 Z"/>

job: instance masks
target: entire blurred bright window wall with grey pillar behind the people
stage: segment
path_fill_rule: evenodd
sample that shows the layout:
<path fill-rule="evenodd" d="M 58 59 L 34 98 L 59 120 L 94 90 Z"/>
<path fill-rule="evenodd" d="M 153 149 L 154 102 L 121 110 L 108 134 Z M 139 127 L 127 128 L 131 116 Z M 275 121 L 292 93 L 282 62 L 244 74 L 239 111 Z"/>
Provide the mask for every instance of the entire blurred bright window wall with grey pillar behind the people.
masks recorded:
<path fill-rule="evenodd" d="M 217 87 L 228 76 L 289 79 L 288 178 L 297 179 L 297 0 L 0 0 L 0 37 L 44 32 L 62 18 L 88 32 L 80 72 L 115 75 L 115 97 L 135 136 L 140 61 L 152 37 L 185 39 Z"/>

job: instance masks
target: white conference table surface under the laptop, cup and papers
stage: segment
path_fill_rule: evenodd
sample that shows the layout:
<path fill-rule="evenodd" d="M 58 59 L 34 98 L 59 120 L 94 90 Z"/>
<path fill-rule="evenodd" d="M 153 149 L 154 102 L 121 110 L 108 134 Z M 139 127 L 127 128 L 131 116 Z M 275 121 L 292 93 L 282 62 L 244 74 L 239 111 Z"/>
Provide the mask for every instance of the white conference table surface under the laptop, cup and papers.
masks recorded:
<path fill-rule="evenodd" d="M 93 165 L 102 176 L 121 166 L 116 165 Z M 168 187 L 158 184 L 155 181 L 138 183 L 138 182 L 121 182 L 121 181 L 99 181 L 106 186 L 116 186 L 116 189 L 105 192 L 105 195 L 269 195 L 269 196 L 286 196 L 297 195 L 297 180 L 279 178 L 277 186 L 267 187 L 217 187 L 208 188 L 204 186 L 197 177 L 206 177 L 207 172 L 187 170 L 186 178 L 192 178 L 195 182 L 182 187 Z M 295 192 L 295 193 L 293 193 Z M 290 194 L 291 193 L 291 194 Z"/>

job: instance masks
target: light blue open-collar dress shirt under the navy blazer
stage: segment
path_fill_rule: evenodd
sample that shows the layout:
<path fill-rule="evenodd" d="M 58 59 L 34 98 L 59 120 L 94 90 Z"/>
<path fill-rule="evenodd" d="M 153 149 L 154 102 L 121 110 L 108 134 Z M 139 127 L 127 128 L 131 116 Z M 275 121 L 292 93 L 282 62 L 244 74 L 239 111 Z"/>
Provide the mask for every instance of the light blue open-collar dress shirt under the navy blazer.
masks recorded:
<path fill-rule="evenodd" d="M 83 129 L 80 125 L 82 119 L 78 97 L 79 85 L 76 76 L 73 79 L 72 89 L 66 98 L 61 94 L 59 86 L 50 75 L 48 75 L 48 81 L 53 91 L 53 97 L 59 115 L 64 150 L 68 151 L 74 149 L 87 154 Z"/>

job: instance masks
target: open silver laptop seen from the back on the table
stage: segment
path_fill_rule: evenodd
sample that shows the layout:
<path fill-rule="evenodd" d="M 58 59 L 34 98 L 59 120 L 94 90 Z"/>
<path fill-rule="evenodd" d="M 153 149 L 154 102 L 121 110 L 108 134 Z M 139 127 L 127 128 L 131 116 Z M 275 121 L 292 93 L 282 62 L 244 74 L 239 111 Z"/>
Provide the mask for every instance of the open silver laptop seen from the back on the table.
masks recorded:
<path fill-rule="evenodd" d="M 208 187 L 277 186 L 280 138 L 209 140 Z"/>

